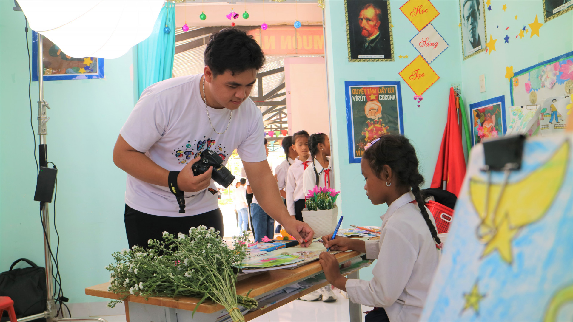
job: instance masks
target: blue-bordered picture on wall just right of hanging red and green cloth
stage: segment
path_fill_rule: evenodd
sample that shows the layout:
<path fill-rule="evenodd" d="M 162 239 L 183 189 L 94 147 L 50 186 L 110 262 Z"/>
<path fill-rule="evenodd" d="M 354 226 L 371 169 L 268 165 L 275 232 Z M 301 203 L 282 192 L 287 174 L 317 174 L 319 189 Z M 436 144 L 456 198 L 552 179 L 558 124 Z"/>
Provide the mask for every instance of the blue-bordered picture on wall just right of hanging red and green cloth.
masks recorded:
<path fill-rule="evenodd" d="M 505 96 L 470 104 L 472 124 L 472 146 L 484 139 L 503 136 L 507 131 L 505 123 Z"/>

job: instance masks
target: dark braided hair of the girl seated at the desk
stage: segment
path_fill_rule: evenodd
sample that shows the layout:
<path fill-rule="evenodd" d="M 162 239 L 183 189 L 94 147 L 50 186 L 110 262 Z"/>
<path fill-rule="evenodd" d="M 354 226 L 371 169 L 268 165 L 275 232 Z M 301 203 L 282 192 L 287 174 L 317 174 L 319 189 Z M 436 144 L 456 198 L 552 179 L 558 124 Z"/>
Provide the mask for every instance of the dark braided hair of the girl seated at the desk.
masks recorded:
<path fill-rule="evenodd" d="M 398 178 L 398 186 L 409 186 L 416 198 L 422 217 L 430 229 L 431 237 L 435 242 L 441 243 L 438 232 L 435 230 L 424 206 L 424 197 L 420 191 L 420 185 L 424 182 L 424 177 L 418 172 L 418 158 L 416 150 L 410 140 L 403 135 L 384 134 L 380 136 L 378 142 L 372 144 L 364 151 L 362 158 L 366 159 L 372 171 L 380 178 L 384 165 L 387 164 Z"/>

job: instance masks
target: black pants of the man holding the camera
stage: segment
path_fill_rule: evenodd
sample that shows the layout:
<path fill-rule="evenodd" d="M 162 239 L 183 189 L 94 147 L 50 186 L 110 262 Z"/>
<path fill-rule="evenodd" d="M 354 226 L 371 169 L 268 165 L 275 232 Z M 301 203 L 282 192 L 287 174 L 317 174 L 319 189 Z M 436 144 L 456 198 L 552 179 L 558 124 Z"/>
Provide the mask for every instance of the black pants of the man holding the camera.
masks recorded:
<path fill-rule="evenodd" d="M 164 217 L 150 215 L 125 205 L 125 233 L 131 249 L 134 245 L 147 247 L 149 239 L 163 241 L 163 231 L 170 234 L 189 234 L 191 227 L 205 225 L 213 227 L 223 236 L 223 214 L 217 208 L 207 213 L 186 217 Z"/>

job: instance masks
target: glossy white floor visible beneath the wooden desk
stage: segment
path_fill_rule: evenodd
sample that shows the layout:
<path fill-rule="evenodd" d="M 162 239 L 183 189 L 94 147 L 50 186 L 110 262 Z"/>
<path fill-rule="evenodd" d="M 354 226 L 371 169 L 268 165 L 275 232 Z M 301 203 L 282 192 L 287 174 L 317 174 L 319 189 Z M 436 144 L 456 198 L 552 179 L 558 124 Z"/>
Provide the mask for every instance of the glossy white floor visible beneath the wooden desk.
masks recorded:
<path fill-rule="evenodd" d="M 265 315 L 261 315 L 253 322 L 348 322 L 348 300 L 340 293 L 336 293 L 338 300 L 325 303 L 323 301 L 295 300 L 283 305 Z M 362 312 L 372 308 L 362 307 Z M 364 313 L 362 313 L 364 317 Z M 125 315 L 101 316 L 108 322 L 125 322 Z M 183 322 L 183 321 L 180 321 Z"/>

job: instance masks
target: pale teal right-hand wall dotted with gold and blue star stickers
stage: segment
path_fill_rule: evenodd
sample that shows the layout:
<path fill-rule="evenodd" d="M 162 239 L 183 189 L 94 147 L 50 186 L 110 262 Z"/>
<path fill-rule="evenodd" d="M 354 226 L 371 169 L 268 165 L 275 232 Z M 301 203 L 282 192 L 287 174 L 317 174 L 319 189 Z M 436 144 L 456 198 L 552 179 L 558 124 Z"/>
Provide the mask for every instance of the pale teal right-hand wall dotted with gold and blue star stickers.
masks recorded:
<path fill-rule="evenodd" d="M 506 4 L 505 12 L 501 9 Z M 497 1 L 492 0 L 492 10 L 486 12 L 486 28 L 496 41 L 496 50 L 491 54 L 481 53 L 462 62 L 462 93 L 466 107 L 492 97 L 505 96 L 505 107 L 511 106 L 509 80 L 505 68 L 513 66 L 513 72 L 533 66 L 573 50 L 573 11 L 556 17 L 539 29 L 539 37 L 531 37 L 528 26 L 537 15 L 543 23 L 543 3 L 540 0 Z M 517 15 L 517 19 L 515 16 Z M 499 26 L 499 28 L 497 28 Z M 517 37 L 525 26 L 529 33 Z M 505 30 L 505 28 L 508 28 Z M 504 43 L 505 35 L 509 43 Z M 484 93 L 480 93 L 481 74 L 485 74 Z"/>

